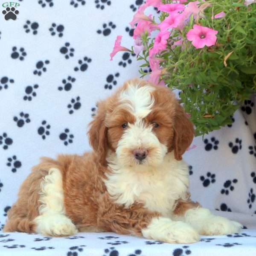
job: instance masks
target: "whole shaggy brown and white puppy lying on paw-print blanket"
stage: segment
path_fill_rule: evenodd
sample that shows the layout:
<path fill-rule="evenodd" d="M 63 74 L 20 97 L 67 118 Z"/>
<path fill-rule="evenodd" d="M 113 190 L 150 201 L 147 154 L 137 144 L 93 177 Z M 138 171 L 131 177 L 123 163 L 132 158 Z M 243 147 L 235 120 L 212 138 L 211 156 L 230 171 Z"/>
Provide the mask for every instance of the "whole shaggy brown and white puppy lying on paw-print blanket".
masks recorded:
<path fill-rule="evenodd" d="M 127 81 L 99 102 L 88 135 L 92 152 L 44 157 L 32 169 L 5 232 L 113 231 L 169 243 L 239 232 L 189 199 L 182 155 L 194 130 L 168 88 Z"/>

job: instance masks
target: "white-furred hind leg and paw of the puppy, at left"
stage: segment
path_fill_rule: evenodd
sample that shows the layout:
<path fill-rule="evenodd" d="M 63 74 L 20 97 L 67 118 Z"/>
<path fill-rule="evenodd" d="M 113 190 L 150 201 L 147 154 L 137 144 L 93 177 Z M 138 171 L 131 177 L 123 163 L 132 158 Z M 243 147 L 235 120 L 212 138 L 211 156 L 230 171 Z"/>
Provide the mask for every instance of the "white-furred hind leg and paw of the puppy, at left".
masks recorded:
<path fill-rule="evenodd" d="M 76 226 L 65 215 L 64 192 L 61 171 L 49 169 L 49 174 L 41 182 L 39 216 L 34 219 L 36 232 L 47 236 L 71 236 L 77 232 Z"/>

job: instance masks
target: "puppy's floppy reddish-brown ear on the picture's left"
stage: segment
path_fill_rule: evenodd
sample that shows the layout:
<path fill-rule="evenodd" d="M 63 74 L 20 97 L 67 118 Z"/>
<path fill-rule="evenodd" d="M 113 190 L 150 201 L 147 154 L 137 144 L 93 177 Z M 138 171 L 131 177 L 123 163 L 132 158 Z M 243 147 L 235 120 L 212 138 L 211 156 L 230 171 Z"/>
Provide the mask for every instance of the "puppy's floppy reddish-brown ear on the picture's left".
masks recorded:
<path fill-rule="evenodd" d="M 95 151 L 99 162 L 105 165 L 108 150 L 108 128 L 105 126 L 105 102 L 98 103 L 98 110 L 89 124 L 89 143 Z"/>

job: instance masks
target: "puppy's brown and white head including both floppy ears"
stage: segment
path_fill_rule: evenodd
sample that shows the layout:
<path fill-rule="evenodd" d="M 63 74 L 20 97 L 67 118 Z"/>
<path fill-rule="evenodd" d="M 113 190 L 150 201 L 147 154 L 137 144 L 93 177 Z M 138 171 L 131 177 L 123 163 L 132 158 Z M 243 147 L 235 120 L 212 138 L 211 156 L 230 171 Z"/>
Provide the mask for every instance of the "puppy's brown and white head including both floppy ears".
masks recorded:
<path fill-rule="evenodd" d="M 88 135 L 102 164 L 113 151 L 121 166 L 157 166 L 171 151 L 181 160 L 194 129 L 171 90 L 133 79 L 99 102 Z"/>

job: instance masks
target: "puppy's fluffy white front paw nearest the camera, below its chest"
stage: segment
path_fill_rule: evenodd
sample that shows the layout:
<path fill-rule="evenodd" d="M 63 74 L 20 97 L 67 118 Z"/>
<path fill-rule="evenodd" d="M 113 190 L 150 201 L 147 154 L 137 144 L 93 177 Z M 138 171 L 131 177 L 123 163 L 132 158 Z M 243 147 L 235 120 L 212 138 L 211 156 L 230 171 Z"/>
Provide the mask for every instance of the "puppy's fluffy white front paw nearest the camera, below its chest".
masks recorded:
<path fill-rule="evenodd" d="M 147 239 L 167 243 L 190 244 L 199 241 L 199 234 L 192 226 L 163 217 L 154 218 L 142 233 Z"/>

